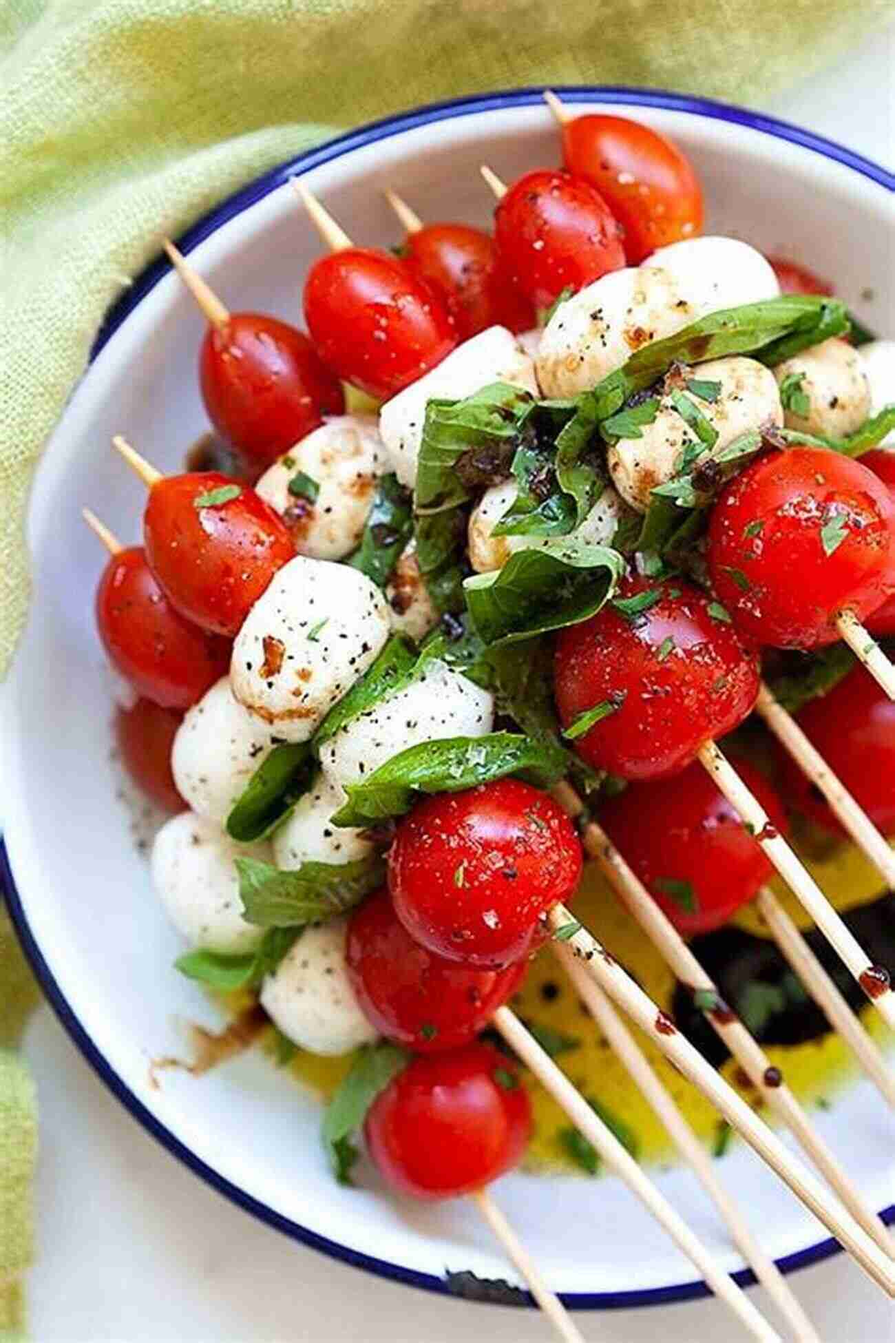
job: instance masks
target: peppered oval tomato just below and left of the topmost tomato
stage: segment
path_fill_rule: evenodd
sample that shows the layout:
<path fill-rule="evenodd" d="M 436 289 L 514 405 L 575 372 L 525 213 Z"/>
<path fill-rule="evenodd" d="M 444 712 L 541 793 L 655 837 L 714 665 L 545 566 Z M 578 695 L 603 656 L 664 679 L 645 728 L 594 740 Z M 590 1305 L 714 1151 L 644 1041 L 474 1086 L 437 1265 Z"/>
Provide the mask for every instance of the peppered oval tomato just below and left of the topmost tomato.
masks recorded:
<path fill-rule="evenodd" d="M 519 177 L 494 215 L 498 250 L 513 282 L 535 308 L 564 289 L 584 289 L 625 263 L 619 224 L 582 177 L 542 169 Z"/>

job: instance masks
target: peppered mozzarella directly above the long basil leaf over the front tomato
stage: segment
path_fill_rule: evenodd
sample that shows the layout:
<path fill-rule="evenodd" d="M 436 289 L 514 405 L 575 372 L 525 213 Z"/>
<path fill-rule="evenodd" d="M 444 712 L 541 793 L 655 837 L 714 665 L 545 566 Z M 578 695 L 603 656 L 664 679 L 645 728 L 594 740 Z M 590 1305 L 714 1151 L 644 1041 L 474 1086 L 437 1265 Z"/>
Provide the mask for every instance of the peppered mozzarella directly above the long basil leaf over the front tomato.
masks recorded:
<path fill-rule="evenodd" d="M 494 725 L 494 697 L 433 658 L 404 690 L 373 705 L 326 741 L 321 764 L 344 788 L 423 741 L 483 737 Z"/>

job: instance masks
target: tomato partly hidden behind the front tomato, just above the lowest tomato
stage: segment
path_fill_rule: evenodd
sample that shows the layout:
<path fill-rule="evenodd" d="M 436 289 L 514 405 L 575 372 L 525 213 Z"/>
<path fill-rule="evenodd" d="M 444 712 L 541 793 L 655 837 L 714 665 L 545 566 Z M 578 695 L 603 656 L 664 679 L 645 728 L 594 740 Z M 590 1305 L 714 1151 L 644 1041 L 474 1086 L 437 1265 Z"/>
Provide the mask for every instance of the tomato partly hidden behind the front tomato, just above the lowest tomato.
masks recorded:
<path fill-rule="evenodd" d="M 346 958 L 368 1021 L 420 1054 L 468 1045 L 525 978 L 523 962 L 474 970 L 420 947 L 385 890 L 352 915 Z"/>

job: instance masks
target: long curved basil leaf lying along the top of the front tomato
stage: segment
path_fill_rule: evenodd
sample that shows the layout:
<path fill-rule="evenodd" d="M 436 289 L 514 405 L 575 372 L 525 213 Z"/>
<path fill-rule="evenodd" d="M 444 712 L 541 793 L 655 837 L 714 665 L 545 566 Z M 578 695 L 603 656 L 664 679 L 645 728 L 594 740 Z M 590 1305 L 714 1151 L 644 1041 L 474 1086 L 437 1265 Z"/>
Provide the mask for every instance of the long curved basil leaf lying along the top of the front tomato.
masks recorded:
<path fill-rule="evenodd" d="M 348 802 L 333 825 L 372 826 L 409 811 L 420 792 L 463 792 L 507 775 L 549 788 L 565 767 L 564 751 L 514 732 L 421 741 L 392 756 L 361 783 L 349 783 Z"/>

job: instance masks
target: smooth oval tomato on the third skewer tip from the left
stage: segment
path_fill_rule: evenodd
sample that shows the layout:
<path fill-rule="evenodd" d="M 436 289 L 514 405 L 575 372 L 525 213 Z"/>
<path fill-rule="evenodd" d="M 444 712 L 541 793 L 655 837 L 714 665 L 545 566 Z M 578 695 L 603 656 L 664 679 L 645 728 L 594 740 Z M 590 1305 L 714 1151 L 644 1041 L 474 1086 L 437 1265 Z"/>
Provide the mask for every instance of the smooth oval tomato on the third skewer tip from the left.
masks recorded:
<path fill-rule="evenodd" d="M 208 418 L 252 466 L 270 466 L 345 410 L 342 387 L 307 336 L 276 317 L 232 313 L 209 326 L 199 355 Z"/>

